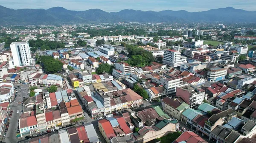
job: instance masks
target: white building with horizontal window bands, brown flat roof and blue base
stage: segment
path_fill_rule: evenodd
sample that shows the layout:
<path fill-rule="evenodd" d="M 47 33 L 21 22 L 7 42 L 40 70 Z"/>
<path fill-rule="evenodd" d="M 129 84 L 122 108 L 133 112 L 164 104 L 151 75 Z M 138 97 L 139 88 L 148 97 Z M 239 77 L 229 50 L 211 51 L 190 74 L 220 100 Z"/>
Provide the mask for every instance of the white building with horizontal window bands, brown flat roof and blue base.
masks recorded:
<path fill-rule="evenodd" d="M 227 75 L 227 68 L 220 68 L 220 67 L 214 67 L 210 68 L 207 71 L 207 81 L 220 81 L 222 79 L 225 79 L 225 76 Z"/>

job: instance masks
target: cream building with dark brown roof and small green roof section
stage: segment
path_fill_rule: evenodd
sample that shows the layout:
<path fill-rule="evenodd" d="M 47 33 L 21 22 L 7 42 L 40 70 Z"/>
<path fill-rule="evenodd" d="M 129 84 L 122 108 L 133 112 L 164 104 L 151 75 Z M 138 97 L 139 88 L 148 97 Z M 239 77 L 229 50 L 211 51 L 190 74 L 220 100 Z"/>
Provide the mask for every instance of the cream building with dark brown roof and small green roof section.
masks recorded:
<path fill-rule="evenodd" d="M 182 113 L 190 106 L 180 98 L 164 98 L 161 101 L 161 108 L 177 120 L 181 119 Z"/>

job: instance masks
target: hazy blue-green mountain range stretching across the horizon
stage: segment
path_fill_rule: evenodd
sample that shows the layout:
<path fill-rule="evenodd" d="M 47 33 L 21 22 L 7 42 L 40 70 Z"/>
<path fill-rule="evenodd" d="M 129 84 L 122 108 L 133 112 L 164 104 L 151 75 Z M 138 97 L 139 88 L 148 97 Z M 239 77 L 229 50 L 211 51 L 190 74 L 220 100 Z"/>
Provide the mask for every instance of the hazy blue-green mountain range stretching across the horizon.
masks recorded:
<path fill-rule="evenodd" d="M 0 6 L 0 25 L 84 24 L 114 22 L 256 22 L 256 11 L 232 7 L 201 12 L 100 9 L 71 11 L 63 7 L 49 9 L 11 9 Z"/>

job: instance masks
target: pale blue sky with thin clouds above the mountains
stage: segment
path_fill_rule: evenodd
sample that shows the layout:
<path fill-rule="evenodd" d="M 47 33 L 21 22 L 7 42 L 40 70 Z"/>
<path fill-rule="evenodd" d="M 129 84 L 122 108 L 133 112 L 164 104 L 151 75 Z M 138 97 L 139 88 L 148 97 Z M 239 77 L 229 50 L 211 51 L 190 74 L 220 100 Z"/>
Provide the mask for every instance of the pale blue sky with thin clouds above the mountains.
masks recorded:
<path fill-rule="evenodd" d="M 0 5 L 13 9 L 48 9 L 60 6 L 76 11 L 99 8 L 107 12 L 118 12 L 123 9 L 195 12 L 225 7 L 256 11 L 256 0 L 0 0 Z"/>

